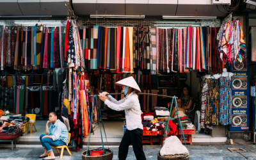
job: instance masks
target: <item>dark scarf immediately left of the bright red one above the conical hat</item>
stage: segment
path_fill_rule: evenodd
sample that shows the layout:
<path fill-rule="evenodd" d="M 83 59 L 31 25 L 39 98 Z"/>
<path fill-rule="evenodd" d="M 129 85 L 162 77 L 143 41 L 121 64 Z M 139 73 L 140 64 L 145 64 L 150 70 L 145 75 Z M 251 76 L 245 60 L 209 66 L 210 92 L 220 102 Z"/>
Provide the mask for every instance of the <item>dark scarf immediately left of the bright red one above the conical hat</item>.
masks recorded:
<path fill-rule="evenodd" d="M 109 70 L 116 72 L 116 28 L 110 28 Z"/>

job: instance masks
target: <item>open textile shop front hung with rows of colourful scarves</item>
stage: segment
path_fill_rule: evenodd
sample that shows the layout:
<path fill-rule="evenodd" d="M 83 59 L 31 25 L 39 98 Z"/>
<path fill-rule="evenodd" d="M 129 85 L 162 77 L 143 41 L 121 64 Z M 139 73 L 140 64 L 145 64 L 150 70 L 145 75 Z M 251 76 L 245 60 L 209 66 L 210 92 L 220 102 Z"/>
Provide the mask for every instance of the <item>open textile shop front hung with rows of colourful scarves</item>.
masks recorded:
<path fill-rule="evenodd" d="M 77 150 L 86 145 L 91 125 L 91 144 L 101 144 L 99 115 L 109 144 L 118 145 L 124 111 L 113 111 L 90 95 L 121 93 L 116 81 L 132 76 L 142 93 L 178 97 L 180 108 L 192 102 L 179 118 L 183 129 L 194 130 L 194 144 L 225 143 L 232 132 L 250 131 L 251 53 L 247 19 L 222 18 L 3 20 L 0 109 L 36 115 L 37 131 L 29 129 L 19 138 L 27 145 L 40 145 L 51 111 L 69 120 Z M 185 97 L 184 87 L 189 90 Z M 124 94 L 113 97 L 120 100 Z M 144 131 L 154 132 L 153 142 L 159 144 L 160 125 L 175 106 L 172 98 L 138 99 Z M 171 118 L 179 119 L 177 113 Z"/>

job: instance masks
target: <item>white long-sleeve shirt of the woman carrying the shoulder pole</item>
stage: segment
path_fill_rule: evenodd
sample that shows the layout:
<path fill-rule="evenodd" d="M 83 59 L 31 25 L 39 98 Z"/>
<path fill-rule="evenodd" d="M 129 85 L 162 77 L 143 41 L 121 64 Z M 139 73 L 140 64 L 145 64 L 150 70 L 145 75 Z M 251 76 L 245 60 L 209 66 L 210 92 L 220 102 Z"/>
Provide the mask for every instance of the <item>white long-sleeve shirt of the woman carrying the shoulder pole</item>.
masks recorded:
<path fill-rule="evenodd" d="M 131 92 L 124 99 L 116 100 L 111 95 L 107 96 L 105 104 L 116 111 L 125 111 L 126 125 L 129 131 L 133 129 L 143 129 L 141 124 L 141 109 L 138 95 Z"/>

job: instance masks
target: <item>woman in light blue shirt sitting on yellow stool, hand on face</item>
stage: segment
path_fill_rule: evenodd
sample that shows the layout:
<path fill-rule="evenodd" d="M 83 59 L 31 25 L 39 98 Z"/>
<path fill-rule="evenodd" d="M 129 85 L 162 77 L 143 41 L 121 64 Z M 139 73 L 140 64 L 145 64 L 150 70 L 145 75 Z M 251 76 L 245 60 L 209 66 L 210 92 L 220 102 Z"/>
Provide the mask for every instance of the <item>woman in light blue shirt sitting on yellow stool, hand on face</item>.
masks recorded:
<path fill-rule="evenodd" d="M 49 114 L 49 120 L 45 127 L 45 134 L 40 136 L 40 141 L 44 148 L 44 154 L 39 156 L 39 158 L 46 157 L 45 159 L 55 159 L 51 146 L 58 147 L 61 145 L 68 145 L 67 127 L 63 123 L 63 118 L 61 116 L 57 117 L 57 115 L 58 114 L 55 111 Z M 49 123 L 51 126 L 48 129 Z M 48 153 L 50 153 L 49 157 Z"/>

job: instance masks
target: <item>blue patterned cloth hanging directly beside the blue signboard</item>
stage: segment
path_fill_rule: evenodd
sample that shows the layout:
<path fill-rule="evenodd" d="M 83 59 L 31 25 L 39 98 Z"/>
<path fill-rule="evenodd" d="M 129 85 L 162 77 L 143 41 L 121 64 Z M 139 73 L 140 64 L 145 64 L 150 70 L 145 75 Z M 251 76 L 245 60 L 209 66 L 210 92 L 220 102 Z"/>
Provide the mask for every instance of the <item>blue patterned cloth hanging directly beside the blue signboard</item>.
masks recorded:
<path fill-rule="evenodd" d="M 218 121 L 221 125 L 231 124 L 232 90 L 230 77 L 220 77 L 220 103 Z"/>

